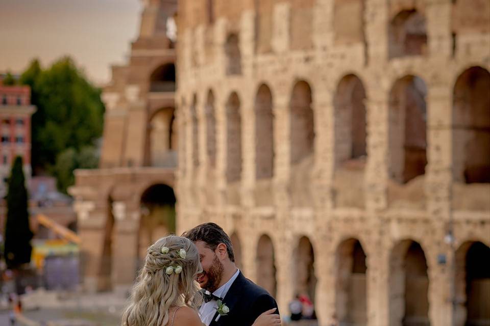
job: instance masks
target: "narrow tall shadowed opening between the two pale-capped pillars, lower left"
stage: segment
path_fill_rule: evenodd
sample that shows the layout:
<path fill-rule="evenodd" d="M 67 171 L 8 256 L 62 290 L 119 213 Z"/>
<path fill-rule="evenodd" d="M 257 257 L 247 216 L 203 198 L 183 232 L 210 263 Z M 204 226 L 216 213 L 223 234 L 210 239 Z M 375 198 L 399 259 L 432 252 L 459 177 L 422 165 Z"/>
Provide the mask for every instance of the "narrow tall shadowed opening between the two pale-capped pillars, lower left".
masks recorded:
<path fill-rule="evenodd" d="M 114 243 L 114 214 L 112 212 L 113 200 L 107 199 L 106 224 L 104 228 L 104 242 L 102 248 L 102 257 L 100 262 L 99 277 L 97 278 L 97 290 L 112 290 L 112 256 Z"/>

